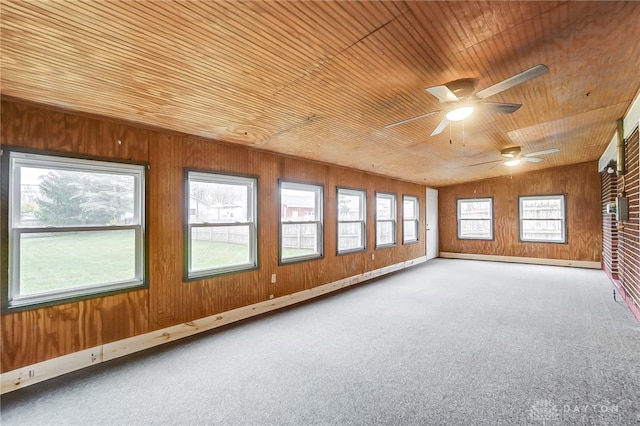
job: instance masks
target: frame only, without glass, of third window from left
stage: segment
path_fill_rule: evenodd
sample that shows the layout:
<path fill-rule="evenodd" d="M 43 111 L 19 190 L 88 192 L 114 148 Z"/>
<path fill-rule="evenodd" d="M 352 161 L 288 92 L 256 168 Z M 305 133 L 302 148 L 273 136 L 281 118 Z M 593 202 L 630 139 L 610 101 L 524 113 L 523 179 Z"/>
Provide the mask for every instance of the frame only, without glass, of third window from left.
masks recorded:
<path fill-rule="evenodd" d="M 314 193 L 316 212 L 315 220 L 282 220 L 282 190 L 292 189 L 296 191 L 308 191 Z M 284 225 L 316 225 L 315 252 L 299 256 L 283 256 L 283 227 Z M 317 183 L 298 182 L 287 179 L 278 180 L 278 265 L 307 262 L 309 260 L 324 258 L 324 185 Z"/>

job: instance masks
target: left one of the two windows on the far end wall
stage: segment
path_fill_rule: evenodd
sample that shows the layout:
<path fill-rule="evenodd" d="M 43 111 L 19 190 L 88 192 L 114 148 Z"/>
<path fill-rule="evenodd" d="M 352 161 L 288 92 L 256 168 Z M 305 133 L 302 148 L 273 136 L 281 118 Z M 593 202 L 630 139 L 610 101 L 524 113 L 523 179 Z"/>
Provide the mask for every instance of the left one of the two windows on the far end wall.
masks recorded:
<path fill-rule="evenodd" d="M 492 198 L 459 199 L 457 214 L 459 239 L 493 239 Z"/>

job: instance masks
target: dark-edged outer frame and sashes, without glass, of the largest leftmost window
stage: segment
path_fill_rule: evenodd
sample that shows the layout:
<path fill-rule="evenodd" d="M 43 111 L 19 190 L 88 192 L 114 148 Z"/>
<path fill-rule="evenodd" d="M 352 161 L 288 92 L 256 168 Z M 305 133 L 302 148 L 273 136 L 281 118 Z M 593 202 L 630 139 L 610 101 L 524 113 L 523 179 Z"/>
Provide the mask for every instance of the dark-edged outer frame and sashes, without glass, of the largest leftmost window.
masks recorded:
<path fill-rule="evenodd" d="M 148 163 L 122 159 L 82 156 L 46 150 L 33 150 L 5 146 L 2 151 L 2 231 L 0 234 L 2 252 L 2 312 L 19 312 L 47 306 L 55 306 L 73 301 L 104 297 L 112 294 L 148 288 L 147 247 L 147 184 Z M 133 176 L 134 178 L 134 220 L 133 224 L 81 225 L 81 226 L 21 226 L 20 167 L 43 168 L 49 170 L 78 171 Z M 17 218 L 17 219 L 16 219 Z M 62 289 L 21 294 L 20 283 L 20 238 L 24 234 L 88 233 L 103 231 L 134 231 L 134 278 L 101 283 L 78 285 Z"/>

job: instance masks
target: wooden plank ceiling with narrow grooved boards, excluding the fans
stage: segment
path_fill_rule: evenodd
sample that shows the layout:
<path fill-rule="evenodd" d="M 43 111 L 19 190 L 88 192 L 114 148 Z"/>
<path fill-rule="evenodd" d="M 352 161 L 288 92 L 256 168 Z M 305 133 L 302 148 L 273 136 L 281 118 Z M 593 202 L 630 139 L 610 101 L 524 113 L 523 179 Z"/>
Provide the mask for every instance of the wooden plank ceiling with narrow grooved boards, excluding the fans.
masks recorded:
<path fill-rule="evenodd" d="M 1 93 L 443 186 L 596 160 L 640 89 L 640 2 L 11 1 Z M 430 136 L 425 91 L 492 96 Z M 11 141 L 2 141 L 11 143 Z M 508 168 L 499 150 L 559 148 Z"/>

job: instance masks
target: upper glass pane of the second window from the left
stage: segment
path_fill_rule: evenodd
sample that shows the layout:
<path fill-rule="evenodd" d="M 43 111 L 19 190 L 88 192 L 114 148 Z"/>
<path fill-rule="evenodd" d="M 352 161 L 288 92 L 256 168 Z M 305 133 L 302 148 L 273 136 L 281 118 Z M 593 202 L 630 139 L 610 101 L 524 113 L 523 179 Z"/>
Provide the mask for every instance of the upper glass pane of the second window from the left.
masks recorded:
<path fill-rule="evenodd" d="M 189 223 L 251 221 L 249 191 L 250 188 L 243 184 L 191 180 Z"/>

